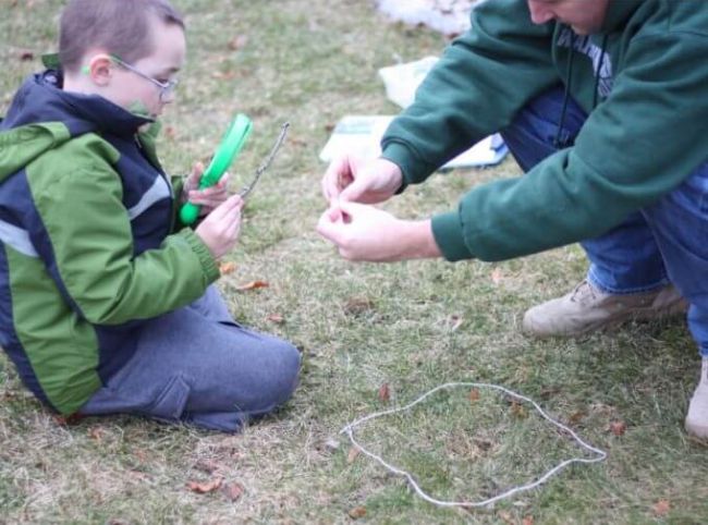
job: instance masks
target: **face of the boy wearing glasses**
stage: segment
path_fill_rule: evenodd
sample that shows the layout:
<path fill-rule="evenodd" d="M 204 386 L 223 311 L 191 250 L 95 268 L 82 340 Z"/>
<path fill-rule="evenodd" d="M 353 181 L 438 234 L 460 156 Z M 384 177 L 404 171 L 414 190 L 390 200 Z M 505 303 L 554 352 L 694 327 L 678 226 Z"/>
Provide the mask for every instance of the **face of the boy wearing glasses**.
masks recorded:
<path fill-rule="evenodd" d="M 186 40 L 182 27 L 159 20 L 151 23 L 151 54 L 130 64 L 110 61 L 110 78 L 101 95 L 127 110 L 141 109 L 157 118 L 174 100 L 172 90 L 164 91 L 157 83 L 167 85 L 175 80 L 184 64 Z"/>

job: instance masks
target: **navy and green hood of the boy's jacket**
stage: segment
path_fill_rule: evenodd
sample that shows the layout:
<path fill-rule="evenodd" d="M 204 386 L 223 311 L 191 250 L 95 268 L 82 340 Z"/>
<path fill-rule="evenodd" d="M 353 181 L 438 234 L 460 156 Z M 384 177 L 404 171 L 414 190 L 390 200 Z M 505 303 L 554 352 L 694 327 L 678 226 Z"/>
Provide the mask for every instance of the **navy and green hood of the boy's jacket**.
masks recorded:
<path fill-rule="evenodd" d="M 0 182 L 72 137 L 131 136 L 150 122 L 98 95 L 62 90 L 58 71 L 35 74 L 20 87 L 0 122 Z"/>

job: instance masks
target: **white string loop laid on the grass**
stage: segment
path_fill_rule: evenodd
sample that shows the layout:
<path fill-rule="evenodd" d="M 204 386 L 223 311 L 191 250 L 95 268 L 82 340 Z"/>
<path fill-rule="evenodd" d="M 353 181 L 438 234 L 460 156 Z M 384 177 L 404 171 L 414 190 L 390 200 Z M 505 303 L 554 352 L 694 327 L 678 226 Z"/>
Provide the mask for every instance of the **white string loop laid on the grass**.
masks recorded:
<path fill-rule="evenodd" d="M 538 411 L 538 413 L 541 416 L 544 416 L 544 418 L 546 420 L 550 422 L 556 427 L 560 428 L 561 430 L 570 434 L 571 437 L 577 443 L 581 444 L 581 447 L 583 447 L 584 449 L 593 452 L 594 454 L 596 454 L 596 456 L 590 457 L 590 459 L 588 459 L 588 457 L 571 457 L 570 460 L 565 460 L 565 461 L 559 463 L 558 465 L 556 465 L 553 468 L 551 468 L 546 474 L 544 474 L 541 477 L 539 477 L 536 481 L 533 481 L 533 483 L 529 483 L 529 484 L 526 484 L 526 485 L 520 485 L 517 487 L 511 488 L 511 489 L 506 490 L 505 492 L 502 492 L 500 495 L 495 496 L 493 498 L 489 498 L 489 499 L 486 499 L 484 501 L 442 501 L 442 500 L 438 500 L 436 498 L 432 498 L 432 497 L 428 496 L 423 489 L 420 489 L 420 487 L 416 483 L 413 475 L 411 475 L 411 473 L 408 473 L 406 471 L 402 471 L 401 468 L 398 468 L 398 467 L 387 463 L 381 456 L 375 454 L 374 452 L 370 452 L 370 451 L 366 450 L 362 444 L 359 444 L 356 441 L 356 439 L 354 439 L 354 427 L 356 427 L 358 425 L 362 425 L 363 423 L 366 423 L 368 420 L 376 419 L 377 417 L 387 416 L 387 415 L 390 415 L 390 414 L 395 414 L 396 412 L 407 411 L 408 408 L 412 408 L 413 406 L 417 405 L 418 403 L 424 401 L 426 398 L 432 395 L 434 393 L 438 392 L 439 390 L 457 388 L 457 387 L 490 388 L 490 389 L 493 389 L 493 390 L 499 390 L 501 392 L 504 392 L 505 394 L 511 395 L 512 398 L 515 398 L 517 400 L 530 403 L 534 406 L 534 408 L 536 408 L 536 411 Z M 567 426 L 565 426 L 562 423 L 553 419 L 546 412 L 544 412 L 544 410 L 534 400 L 532 400 L 529 398 L 526 398 L 525 395 L 521 395 L 521 394 L 518 394 L 518 393 L 516 393 L 516 392 L 514 392 L 512 390 L 509 390 L 509 389 L 506 389 L 504 387 L 500 387 L 498 384 L 489 384 L 489 383 L 480 383 L 480 382 L 449 382 L 449 383 L 445 383 L 445 384 L 441 384 L 439 387 L 434 388 L 432 390 L 429 390 L 425 394 L 420 395 L 417 400 L 413 401 L 412 403 L 408 403 L 405 406 L 402 406 L 402 407 L 399 407 L 399 408 L 390 408 L 388 411 L 376 412 L 374 414 L 369 414 L 368 416 L 364 416 L 364 417 L 362 417 L 359 419 L 356 419 L 353 423 L 350 423 L 349 425 L 346 425 L 344 428 L 342 428 L 342 430 L 340 430 L 340 434 L 346 434 L 349 436 L 350 440 L 352 441 L 352 444 L 354 444 L 354 447 L 356 447 L 359 451 L 362 451 L 364 454 L 368 455 L 373 460 L 376 460 L 378 463 L 383 465 L 390 472 L 392 472 L 394 474 L 398 474 L 400 476 L 404 476 L 408 480 L 408 484 L 411 484 L 411 486 L 415 489 L 416 493 L 420 498 L 423 498 L 424 500 L 426 500 L 429 503 L 434 503 L 434 504 L 440 505 L 440 506 L 468 506 L 468 508 L 487 506 L 487 505 L 490 505 L 491 503 L 495 503 L 495 502 L 497 502 L 499 500 L 502 500 L 504 498 L 510 498 L 511 496 L 514 496 L 515 493 L 524 492 L 526 490 L 534 489 L 534 488 L 545 484 L 546 481 L 548 481 L 548 479 L 550 477 L 558 474 L 560 471 L 562 471 L 563 468 L 565 468 L 566 466 L 569 466 L 569 465 L 571 465 L 573 463 L 585 463 L 585 464 L 598 463 L 598 462 L 605 461 L 607 459 L 607 452 L 605 452 L 603 450 L 600 450 L 600 449 L 598 449 L 596 447 L 593 447 L 591 444 L 588 444 L 587 442 L 585 442 L 577 434 L 575 434 L 573 430 L 571 430 Z"/>

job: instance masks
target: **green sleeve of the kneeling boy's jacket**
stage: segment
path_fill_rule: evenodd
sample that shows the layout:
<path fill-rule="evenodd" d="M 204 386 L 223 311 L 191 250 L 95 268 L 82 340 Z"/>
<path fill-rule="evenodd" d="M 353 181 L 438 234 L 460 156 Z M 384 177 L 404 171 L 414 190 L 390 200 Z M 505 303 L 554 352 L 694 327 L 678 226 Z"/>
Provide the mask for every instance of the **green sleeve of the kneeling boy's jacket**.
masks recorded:
<path fill-rule="evenodd" d="M 135 257 L 118 173 L 90 147 L 76 149 L 75 169 L 58 169 L 51 155 L 34 167 L 53 180 L 33 195 L 42 224 L 30 235 L 66 300 L 91 323 L 119 325 L 198 298 L 219 277 L 206 245 L 184 229 Z"/>

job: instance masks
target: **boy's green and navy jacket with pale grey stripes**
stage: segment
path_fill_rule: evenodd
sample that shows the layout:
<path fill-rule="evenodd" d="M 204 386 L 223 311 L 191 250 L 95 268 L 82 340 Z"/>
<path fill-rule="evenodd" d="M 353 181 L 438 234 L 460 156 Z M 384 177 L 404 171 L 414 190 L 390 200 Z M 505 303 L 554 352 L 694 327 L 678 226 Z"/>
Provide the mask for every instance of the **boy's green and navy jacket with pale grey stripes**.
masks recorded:
<path fill-rule="evenodd" d="M 28 78 L 0 124 L 0 345 L 42 402 L 72 414 L 133 355 L 141 325 L 218 276 L 150 121 Z"/>

